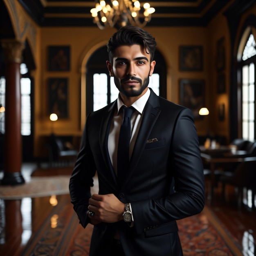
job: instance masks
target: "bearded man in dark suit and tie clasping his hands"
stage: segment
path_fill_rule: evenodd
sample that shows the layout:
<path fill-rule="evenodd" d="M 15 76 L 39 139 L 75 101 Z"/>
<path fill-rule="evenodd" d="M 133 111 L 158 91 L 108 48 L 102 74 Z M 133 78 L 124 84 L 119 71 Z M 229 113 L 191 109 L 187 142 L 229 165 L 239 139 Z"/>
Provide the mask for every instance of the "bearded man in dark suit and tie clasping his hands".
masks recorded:
<path fill-rule="evenodd" d="M 203 167 L 192 113 L 148 88 L 156 49 L 148 32 L 122 27 L 107 49 L 107 67 L 119 97 L 88 115 L 70 179 L 81 225 L 94 225 L 90 256 L 181 256 L 175 220 L 204 207 Z M 122 105 L 132 106 L 134 112 L 130 162 L 120 168 Z M 96 171 L 99 194 L 91 196 Z"/>

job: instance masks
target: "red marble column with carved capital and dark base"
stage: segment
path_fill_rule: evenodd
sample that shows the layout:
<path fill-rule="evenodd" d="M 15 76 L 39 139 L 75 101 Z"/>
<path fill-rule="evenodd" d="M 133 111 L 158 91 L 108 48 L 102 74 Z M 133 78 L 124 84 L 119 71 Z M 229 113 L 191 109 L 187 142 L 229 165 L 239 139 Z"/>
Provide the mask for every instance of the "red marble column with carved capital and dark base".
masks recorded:
<path fill-rule="evenodd" d="M 5 56 L 5 134 L 4 177 L 1 184 L 15 185 L 25 182 L 21 174 L 22 140 L 20 63 L 24 44 L 16 40 L 2 40 Z"/>

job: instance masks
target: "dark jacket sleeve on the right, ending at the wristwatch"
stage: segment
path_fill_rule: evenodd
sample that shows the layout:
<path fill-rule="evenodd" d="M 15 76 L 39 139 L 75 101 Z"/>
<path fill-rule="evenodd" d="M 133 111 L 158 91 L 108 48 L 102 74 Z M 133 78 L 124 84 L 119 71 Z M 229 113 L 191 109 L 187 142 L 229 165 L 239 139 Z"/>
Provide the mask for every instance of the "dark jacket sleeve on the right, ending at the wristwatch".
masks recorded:
<path fill-rule="evenodd" d="M 138 233 L 198 214 L 204 207 L 203 165 L 191 110 L 183 108 L 180 111 L 169 136 L 172 142 L 168 156 L 171 170 L 168 172 L 173 175 L 174 193 L 170 187 L 169 193 L 162 198 L 131 202 Z"/>

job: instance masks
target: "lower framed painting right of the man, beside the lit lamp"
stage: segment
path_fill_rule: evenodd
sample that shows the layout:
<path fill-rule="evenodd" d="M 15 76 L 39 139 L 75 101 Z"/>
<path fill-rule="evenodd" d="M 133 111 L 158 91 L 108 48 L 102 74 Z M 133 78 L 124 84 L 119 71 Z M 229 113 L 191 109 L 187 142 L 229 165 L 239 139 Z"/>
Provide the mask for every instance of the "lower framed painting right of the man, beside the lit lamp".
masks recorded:
<path fill-rule="evenodd" d="M 200 108 L 204 107 L 205 85 L 203 79 L 180 80 L 180 105 L 190 108 L 194 119 L 201 119 Z"/>

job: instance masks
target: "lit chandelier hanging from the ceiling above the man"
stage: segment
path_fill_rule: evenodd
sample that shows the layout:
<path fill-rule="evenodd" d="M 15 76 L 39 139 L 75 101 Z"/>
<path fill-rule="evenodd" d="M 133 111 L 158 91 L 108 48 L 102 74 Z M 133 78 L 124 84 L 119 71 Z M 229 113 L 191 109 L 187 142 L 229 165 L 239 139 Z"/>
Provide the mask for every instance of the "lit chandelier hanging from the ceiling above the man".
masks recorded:
<path fill-rule="evenodd" d="M 149 3 L 144 3 L 142 16 L 141 4 L 138 0 L 111 0 L 109 2 L 110 4 L 101 0 L 95 5 L 95 8 L 91 9 L 94 23 L 100 29 L 126 25 L 144 27 L 150 22 L 151 13 L 155 12 L 155 8 L 150 7 Z"/>

